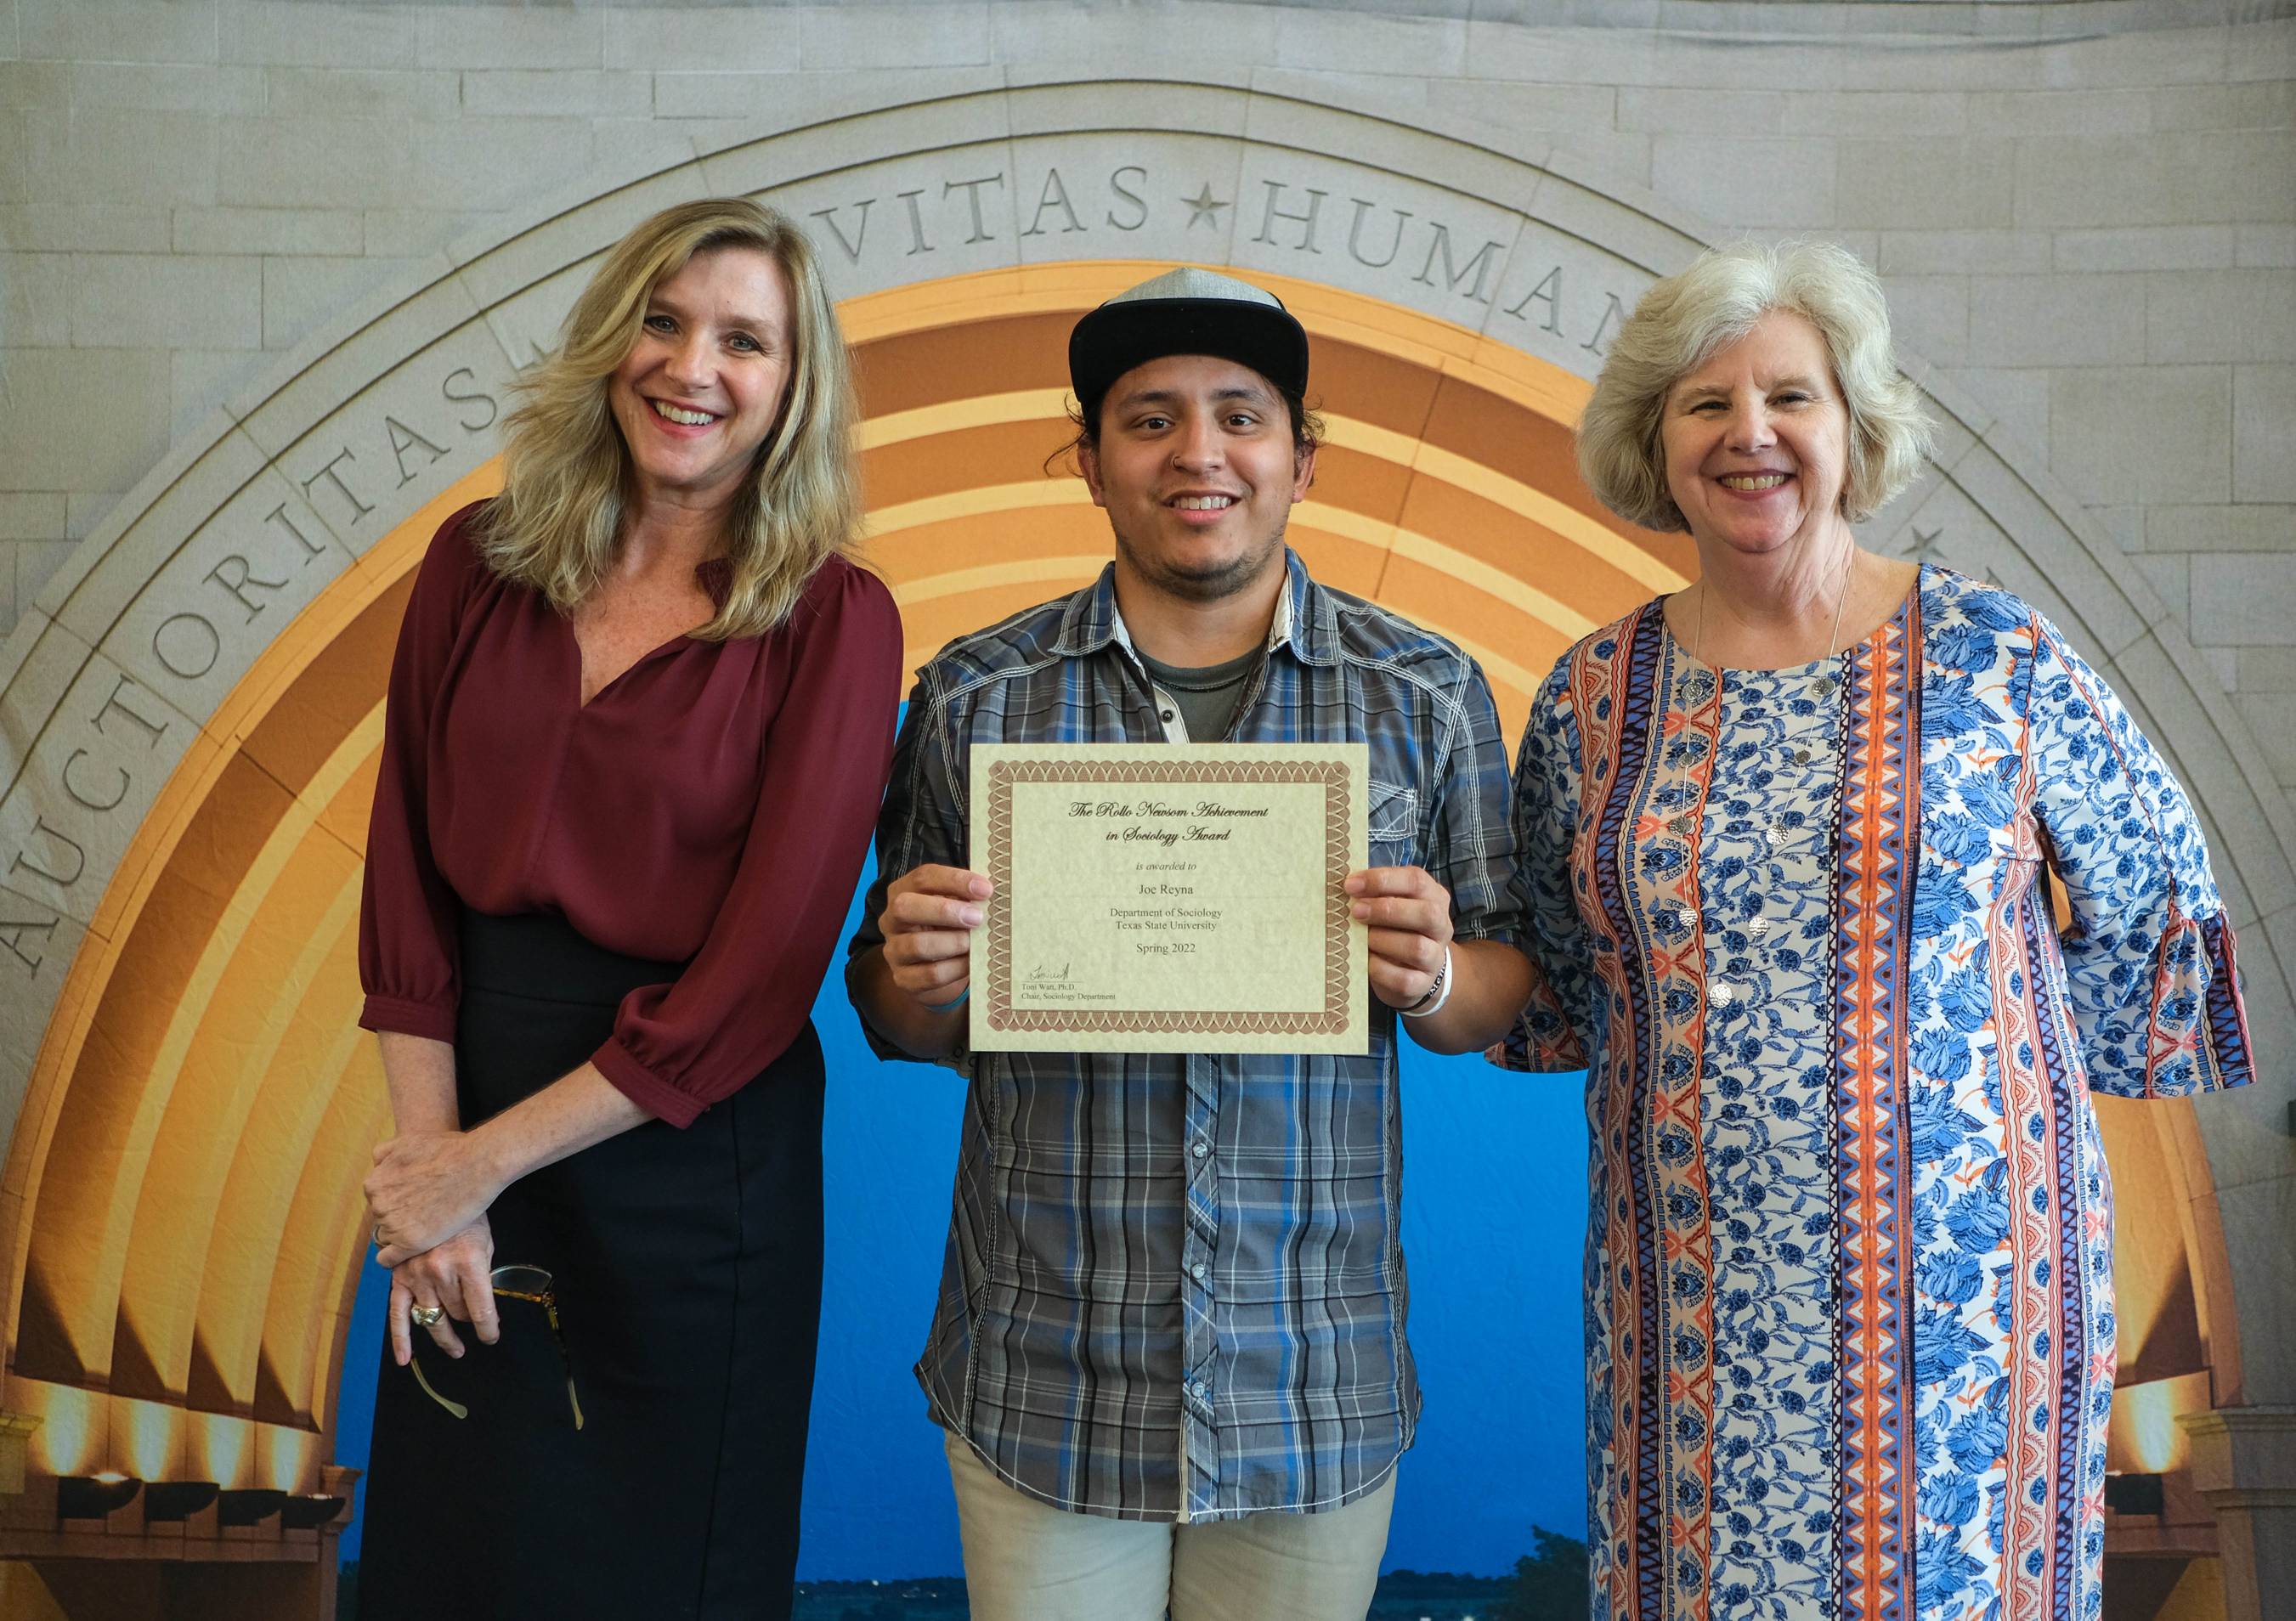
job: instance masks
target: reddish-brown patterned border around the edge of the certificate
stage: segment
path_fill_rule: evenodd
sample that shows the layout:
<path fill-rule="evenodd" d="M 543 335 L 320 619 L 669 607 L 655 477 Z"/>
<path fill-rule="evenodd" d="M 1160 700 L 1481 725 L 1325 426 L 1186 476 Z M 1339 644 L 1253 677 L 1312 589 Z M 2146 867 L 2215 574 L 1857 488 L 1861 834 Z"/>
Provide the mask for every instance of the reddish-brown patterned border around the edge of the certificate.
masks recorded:
<path fill-rule="evenodd" d="M 1322 785 L 1322 1008 L 1313 1013 L 1173 1013 L 1130 1008 L 1015 1008 L 1013 1006 L 1013 785 L 1015 783 L 1320 783 Z M 1148 1031 L 1233 1036 L 1334 1036 L 1348 1029 L 1348 895 L 1341 884 L 1352 870 L 1348 829 L 1357 806 L 1345 760 L 999 760 L 990 767 L 987 866 L 996 898 L 987 909 L 990 976 L 987 1024 L 992 1031 L 1077 1031 L 1081 1036 L 1139 1036 Z"/>

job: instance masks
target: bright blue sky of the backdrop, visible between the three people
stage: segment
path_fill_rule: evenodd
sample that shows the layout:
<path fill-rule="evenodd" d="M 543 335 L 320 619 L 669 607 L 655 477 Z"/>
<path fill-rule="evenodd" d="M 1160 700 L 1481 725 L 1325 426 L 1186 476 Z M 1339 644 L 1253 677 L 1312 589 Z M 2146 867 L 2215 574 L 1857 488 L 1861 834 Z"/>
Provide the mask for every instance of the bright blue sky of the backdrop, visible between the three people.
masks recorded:
<path fill-rule="evenodd" d="M 941 1270 L 964 1081 L 879 1063 L 836 971 L 813 1022 L 829 1061 L 829 1254 L 799 1575 L 953 1575 L 948 1465 L 909 1366 Z M 1396 1488 L 1389 1570 L 1502 1575 L 1534 1522 L 1584 1536 L 1582 1086 L 1403 1045 L 1403 1249 L 1426 1417 Z M 335 1451 L 358 1467 L 386 1286 L 370 1263 L 342 1368 Z M 342 1554 L 358 1557 L 356 1525 Z"/>

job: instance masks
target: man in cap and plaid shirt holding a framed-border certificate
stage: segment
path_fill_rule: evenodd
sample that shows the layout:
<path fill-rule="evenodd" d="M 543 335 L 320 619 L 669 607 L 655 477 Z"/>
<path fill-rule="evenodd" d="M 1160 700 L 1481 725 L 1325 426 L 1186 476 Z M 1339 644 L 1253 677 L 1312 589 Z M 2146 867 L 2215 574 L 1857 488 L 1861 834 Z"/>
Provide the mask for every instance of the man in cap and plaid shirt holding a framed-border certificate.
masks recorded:
<path fill-rule="evenodd" d="M 1401 1033 L 1479 1052 L 1531 994 L 1497 712 L 1283 544 L 1322 427 L 1274 294 L 1180 266 L 1068 363 L 1114 558 L 918 670 L 847 960 L 879 1052 L 971 1081 L 918 1359 L 971 1605 L 1196 1614 L 1169 1575 L 1221 1545 L 1203 1614 L 1364 1614 L 1417 1405 Z M 1079 1573 L 1081 1513 L 1159 1557 Z"/>

